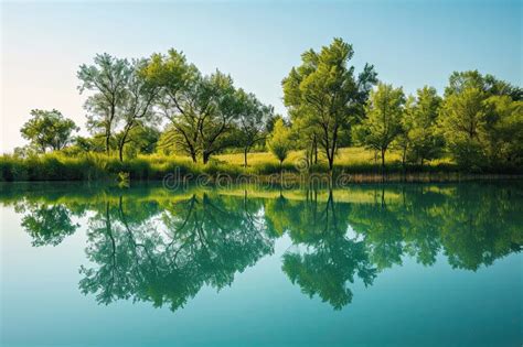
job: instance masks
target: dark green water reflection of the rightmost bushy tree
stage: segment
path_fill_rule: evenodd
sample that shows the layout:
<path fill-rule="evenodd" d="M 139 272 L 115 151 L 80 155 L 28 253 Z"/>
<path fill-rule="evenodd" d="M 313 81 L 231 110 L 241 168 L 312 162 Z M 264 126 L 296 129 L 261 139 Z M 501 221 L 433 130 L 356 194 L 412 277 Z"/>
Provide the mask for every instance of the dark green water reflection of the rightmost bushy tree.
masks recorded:
<path fill-rule="evenodd" d="M 452 268 L 478 270 L 521 251 L 522 192 L 513 187 L 457 186 L 438 208 L 440 240 Z"/>

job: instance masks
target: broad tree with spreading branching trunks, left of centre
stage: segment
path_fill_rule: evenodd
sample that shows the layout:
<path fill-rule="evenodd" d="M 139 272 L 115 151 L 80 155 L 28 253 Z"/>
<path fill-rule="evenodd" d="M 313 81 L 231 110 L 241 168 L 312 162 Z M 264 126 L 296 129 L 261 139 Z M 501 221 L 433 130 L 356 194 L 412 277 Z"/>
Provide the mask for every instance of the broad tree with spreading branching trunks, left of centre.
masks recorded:
<path fill-rule="evenodd" d="M 202 76 L 185 56 L 170 50 L 152 55 L 146 76 L 161 88 L 160 108 L 171 122 L 171 140 L 196 162 L 207 163 L 228 142 L 238 108 L 231 76 L 216 71 Z"/>

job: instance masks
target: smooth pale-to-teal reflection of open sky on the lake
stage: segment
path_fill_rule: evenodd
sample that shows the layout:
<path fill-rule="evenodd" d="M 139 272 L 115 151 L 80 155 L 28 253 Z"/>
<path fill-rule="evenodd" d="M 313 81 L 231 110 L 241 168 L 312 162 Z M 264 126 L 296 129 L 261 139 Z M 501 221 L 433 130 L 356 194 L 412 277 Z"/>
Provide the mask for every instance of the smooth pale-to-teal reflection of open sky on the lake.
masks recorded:
<path fill-rule="evenodd" d="M 514 202 L 517 206 L 512 204 L 509 208 L 521 212 L 521 199 Z M 267 213 L 260 208 L 254 215 L 263 217 L 264 210 Z M 194 299 L 173 313 L 169 304 L 153 308 L 150 302 L 134 304 L 132 300 L 98 305 L 94 294 L 81 293 L 79 265 L 97 265 L 86 259 L 86 228 L 94 216 L 92 212 L 72 217 L 73 223 L 79 224 L 78 230 L 55 247 L 31 247 L 32 238 L 21 227 L 22 216 L 12 206 L 1 207 L 2 346 L 167 346 L 172 341 L 210 346 L 252 345 L 248 341 L 267 346 L 502 346 L 516 345 L 522 338 L 521 253 L 509 252 L 492 265 L 470 271 L 452 269 L 445 249 L 438 250 L 435 264 L 428 267 L 404 251 L 401 264 L 380 271 L 372 285 L 365 288 L 355 275 L 354 283 L 349 283 L 352 302 L 333 311 L 319 295 L 309 299 L 282 271 L 284 254 L 312 253 L 317 247 L 293 243 L 286 232 L 274 238 L 274 253 L 262 256 L 254 265 L 236 272 L 232 285 L 218 292 L 212 285 L 203 285 Z M 497 223 L 510 225 L 513 216 L 508 214 Z M 169 241 L 161 217 L 156 215 L 152 219 L 150 226 L 163 241 Z M 345 237 L 363 241 L 363 234 L 354 229 L 346 227 Z M 515 230 L 521 240 L 521 229 Z"/>

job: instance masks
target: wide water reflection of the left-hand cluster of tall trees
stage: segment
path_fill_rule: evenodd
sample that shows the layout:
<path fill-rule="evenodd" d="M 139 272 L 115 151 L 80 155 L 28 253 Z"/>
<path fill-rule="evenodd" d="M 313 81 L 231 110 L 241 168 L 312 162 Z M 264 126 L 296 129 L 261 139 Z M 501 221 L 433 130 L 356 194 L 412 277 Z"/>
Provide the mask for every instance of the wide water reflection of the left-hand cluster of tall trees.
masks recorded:
<path fill-rule="evenodd" d="M 273 251 L 253 204 L 193 194 L 140 223 L 131 223 L 127 209 L 120 197 L 92 219 L 87 257 L 98 267 L 82 268 L 81 289 L 100 303 L 131 297 L 174 311 L 203 285 L 230 285 L 236 272 Z"/>

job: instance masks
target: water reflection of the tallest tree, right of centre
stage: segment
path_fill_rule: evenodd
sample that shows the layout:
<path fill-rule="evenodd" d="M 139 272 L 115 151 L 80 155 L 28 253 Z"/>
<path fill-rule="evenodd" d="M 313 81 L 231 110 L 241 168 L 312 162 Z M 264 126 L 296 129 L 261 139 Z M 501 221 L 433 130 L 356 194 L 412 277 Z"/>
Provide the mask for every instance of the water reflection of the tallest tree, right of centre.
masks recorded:
<path fill-rule="evenodd" d="M 286 204 L 282 199 L 280 205 L 285 209 L 279 213 L 292 223 L 288 231 L 293 243 L 307 246 L 303 252 L 284 254 L 284 272 L 305 294 L 319 295 L 334 308 L 342 308 L 352 301 L 348 283 L 357 276 L 370 285 L 376 276 L 364 242 L 346 236 L 348 206 L 334 204 L 332 191 L 327 203 L 318 203 L 317 192 L 308 192 L 301 204 Z M 275 219 L 271 210 L 267 209 L 268 219 Z"/>

